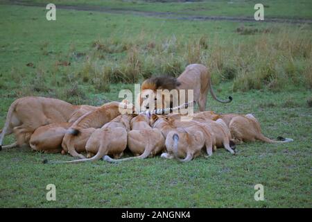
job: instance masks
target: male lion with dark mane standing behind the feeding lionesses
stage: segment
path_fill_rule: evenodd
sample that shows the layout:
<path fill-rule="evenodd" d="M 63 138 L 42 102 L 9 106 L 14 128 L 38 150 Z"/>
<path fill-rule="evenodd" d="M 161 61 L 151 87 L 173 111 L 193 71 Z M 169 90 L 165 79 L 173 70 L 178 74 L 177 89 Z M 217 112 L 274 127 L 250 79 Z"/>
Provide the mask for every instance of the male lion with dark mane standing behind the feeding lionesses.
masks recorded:
<path fill-rule="evenodd" d="M 200 111 L 205 110 L 208 91 L 210 91 L 211 96 L 220 103 L 229 103 L 232 101 L 231 96 L 229 96 L 227 101 L 222 101 L 216 97 L 216 94 L 214 94 L 214 90 L 211 87 L 210 72 L 208 71 L 207 67 L 200 64 L 188 65 L 183 73 L 177 78 L 168 76 L 148 78 L 141 85 L 141 94 L 137 98 L 139 100 L 139 104 L 141 105 L 145 99 L 148 99 L 148 96 L 143 95 L 148 95 L 148 92 L 154 92 L 156 94 L 157 89 L 177 89 L 179 95 L 180 89 L 186 89 L 186 93 L 187 89 L 193 89 L 193 100 L 198 103 L 198 108 Z M 157 107 L 157 99 L 159 99 L 158 94 L 155 96 L 155 107 Z M 172 106 L 172 101 L 170 98 L 163 96 L 162 100 L 163 107 L 167 108 Z M 187 101 L 189 100 L 187 99 Z"/>

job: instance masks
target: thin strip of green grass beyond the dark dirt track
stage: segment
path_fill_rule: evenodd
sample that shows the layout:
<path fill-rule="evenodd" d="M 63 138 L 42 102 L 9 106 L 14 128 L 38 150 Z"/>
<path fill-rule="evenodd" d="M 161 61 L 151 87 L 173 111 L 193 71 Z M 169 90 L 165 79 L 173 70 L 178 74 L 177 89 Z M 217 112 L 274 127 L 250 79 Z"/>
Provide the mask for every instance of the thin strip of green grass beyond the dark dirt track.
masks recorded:
<path fill-rule="evenodd" d="M 42 0 L 24 0 L 26 3 L 50 3 Z M 173 12 L 178 15 L 203 15 L 203 16 L 229 16 L 229 17 L 254 17 L 254 5 L 259 1 L 245 0 L 207 0 L 193 3 L 177 1 L 122 1 L 117 0 L 55 0 L 56 6 L 102 6 L 118 10 L 136 10 L 144 12 Z M 232 3 L 229 3 L 232 2 Z M 265 17 L 281 17 L 292 19 L 311 19 L 312 3 L 309 0 L 265 0 L 261 1 Z M 300 12 L 300 14 L 298 14 Z"/>

